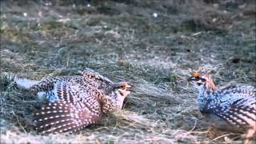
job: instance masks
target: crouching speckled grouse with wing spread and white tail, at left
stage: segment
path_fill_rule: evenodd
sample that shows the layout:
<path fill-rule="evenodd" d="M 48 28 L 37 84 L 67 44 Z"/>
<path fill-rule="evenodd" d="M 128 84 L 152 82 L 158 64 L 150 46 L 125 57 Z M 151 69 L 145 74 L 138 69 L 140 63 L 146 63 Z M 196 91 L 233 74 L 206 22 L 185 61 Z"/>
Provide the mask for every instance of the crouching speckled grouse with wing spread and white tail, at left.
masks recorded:
<path fill-rule="evenodd" d="M 131 91 L 127 82 L 114 83 L 90 69 L 80 74 L 42 81 L 14 79 L 19 87 L 48 101 L 48 105 L 34 114 L 39 132 L 72 133 L 98 122 L 104 113 L 122 109 Z"/>

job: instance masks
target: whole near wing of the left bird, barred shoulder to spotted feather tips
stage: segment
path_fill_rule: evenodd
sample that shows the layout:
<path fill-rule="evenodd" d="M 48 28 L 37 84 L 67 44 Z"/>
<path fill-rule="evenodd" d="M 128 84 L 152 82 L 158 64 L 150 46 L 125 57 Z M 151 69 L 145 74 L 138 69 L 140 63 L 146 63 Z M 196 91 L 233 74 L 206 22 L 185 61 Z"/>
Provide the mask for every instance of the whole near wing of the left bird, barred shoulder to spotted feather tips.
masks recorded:
<path fill-rule="evenodd" d="M 76 81 L 57 82 L 54 90 L 58 101 L 42 107 L 35 114 L 39 132 L 74 132 L 98 122 L 102 109 L 93 90 Z"/>

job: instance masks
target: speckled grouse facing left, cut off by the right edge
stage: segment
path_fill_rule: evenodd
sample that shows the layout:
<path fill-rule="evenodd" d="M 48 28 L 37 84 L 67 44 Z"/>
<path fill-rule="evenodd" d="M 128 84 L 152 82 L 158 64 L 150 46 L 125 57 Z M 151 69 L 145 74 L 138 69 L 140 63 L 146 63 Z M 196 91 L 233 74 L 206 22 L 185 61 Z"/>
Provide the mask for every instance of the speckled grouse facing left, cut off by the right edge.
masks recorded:
<path fill-rule="evenodd" d="M 209 74 L 194 73 L 188 79 L 199 91 L 200 112 L 215 125 L 247 130 L 246 142 L 256 134 L 256 89 L 254 86 L 227 86 L 218 89 Z"/>

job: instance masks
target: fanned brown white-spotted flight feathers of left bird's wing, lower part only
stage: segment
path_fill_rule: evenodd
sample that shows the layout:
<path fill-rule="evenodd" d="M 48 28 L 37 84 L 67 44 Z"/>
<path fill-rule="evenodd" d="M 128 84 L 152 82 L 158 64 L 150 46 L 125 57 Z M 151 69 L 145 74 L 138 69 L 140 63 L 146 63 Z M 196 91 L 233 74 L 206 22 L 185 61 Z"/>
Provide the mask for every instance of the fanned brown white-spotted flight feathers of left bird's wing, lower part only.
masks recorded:
<path fill-rule="evenodd" d="M 73 133 L 98 122 L 100 114 L 100 110 L 92 110 L 86 106 L 81 109 L 70 102 L 58 101 L 43 106 L 34 114 L 34 120 L 36 129 L 42 134 Z"/>

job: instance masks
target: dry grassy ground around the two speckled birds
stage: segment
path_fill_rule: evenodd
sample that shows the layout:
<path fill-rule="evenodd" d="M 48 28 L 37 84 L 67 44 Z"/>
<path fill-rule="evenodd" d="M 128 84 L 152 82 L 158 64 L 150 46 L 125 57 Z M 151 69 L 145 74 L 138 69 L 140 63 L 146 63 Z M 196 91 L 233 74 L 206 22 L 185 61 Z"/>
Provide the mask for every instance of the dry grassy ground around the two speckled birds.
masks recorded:
<path fill-rule="evenodd" d="M 254 1 L 1 1 L 1 74 L 30 79 L 89 67 L 134 84 L 124 109 L 77 134 L 40 135 L 38 99 L 1 80 L 1 143 L 241 143 L 202 117 L 194 70 L 255 86 Z"/>

